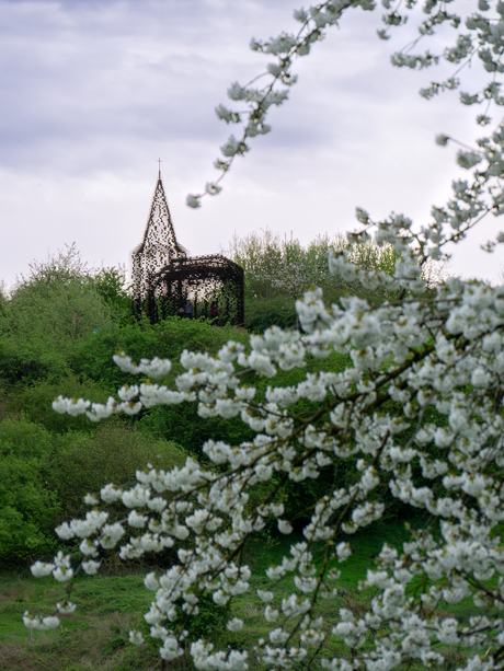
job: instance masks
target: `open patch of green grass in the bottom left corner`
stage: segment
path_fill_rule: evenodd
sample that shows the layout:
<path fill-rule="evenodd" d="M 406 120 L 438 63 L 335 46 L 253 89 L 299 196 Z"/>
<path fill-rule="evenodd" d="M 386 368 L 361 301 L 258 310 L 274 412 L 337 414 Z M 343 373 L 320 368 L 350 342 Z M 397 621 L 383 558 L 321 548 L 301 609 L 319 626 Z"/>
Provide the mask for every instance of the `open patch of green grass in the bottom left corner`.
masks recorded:
<path fill-rule="evenodd" d="M 138 670 L 153 668 L 156 648 L 128 643 L 130 628 L 141 624 L 151 600 L 142 575 L 96 576 L 76 579 L 71 599 L 78 609 L 61 616 L 56 630 L 33 632 L 23 625 L 24 611 L 53 613 L 66 598 L 66 588 L 50 578 L 27 574 L 0 577 L 0 669 L 3 670 Z"/>

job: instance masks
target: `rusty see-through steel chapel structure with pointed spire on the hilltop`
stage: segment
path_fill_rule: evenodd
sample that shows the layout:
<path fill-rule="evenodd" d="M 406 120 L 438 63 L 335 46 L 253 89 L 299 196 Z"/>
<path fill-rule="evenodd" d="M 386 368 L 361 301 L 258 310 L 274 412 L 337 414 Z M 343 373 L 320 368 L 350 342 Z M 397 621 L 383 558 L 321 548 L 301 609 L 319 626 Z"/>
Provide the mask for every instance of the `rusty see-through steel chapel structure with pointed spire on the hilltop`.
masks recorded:
<path fill-rule="evenodd" d="M 221 254 L 190 256 L 176 241 L 161 173 L 142 242 L 131 253 L 134 314 L 156 323 L 205 316 L 244 323 L 243 268 Z"/>

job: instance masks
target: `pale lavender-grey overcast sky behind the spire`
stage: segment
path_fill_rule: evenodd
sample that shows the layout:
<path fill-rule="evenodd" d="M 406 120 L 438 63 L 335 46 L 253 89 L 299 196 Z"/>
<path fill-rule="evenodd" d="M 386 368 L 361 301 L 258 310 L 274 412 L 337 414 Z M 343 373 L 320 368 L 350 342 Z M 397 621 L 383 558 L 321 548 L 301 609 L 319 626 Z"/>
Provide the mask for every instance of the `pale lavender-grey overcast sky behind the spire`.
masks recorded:
<path fill-rule="evenodd" d="M 299 59 L 299 82 L 275 109 L 273 131 L 251 142 L 201 210 L 185 206 L 217 174 L 230 134 L 215 107 L 267 57 L 251 37 L 293 31 L 291 0 L 0 0 L 0 278 L 10 285 L 76 242 L 92 266 L 128 264 L 140 242 L 158 158 L 179 241 L 218 252 L 233 234 L 270 228 L 303 243 L 404 212 L 428 220 L 454 177 L 455 149 L 470 141 L 473 108 L 448 94 L 426 102 L 433 73 L 393 69 L 412 33 L 376 37 L 382 11 L 353 10 Z M 410 28 L 408 28 L 410 30 Z M 443 37 L 443 36 L 442 36 Z M 432 45 L 443 47 L 442 38 Z M 470 74 L 476 77 L 476 73 Z M 496 279 L 502 252 L 457 250 L 453 274 Z"/>

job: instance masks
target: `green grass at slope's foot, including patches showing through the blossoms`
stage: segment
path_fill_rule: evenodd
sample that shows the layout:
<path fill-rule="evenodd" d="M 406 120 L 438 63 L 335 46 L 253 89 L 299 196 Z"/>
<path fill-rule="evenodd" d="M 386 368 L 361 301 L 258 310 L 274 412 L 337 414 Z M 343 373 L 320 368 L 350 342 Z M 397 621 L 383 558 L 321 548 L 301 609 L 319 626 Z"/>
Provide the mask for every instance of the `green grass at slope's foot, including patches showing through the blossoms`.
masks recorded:
<path fill-rule="evenodd" d="M 330 600 L 320 601 L 316 615 L 324 616 L 324 628 L 330 633 L 339 620 L 341 608 L 350 609 L 355 615 L 364 614 L 370 593 L 362 592 L 358 583 L 366 577 L 371 559 L 380 551 L 383 541 L 397 547 L 405 540 L 404 524 L 399 521 L 381 522 L 365 532 L 351 537 L 353 555 L 341 565 L 342 576 L 337 581 L 337 594 Z M 282 562 L 289 554 L 293 543 L 302 540 L 301 534 L 283 536 L 264 534 L 249 542 L 244 552 L 244 562 L 249 564 L 253 576 L 251 590 L 236 597 L 231 613 L 242 617 L 244 627 L 240 633 L 230 633 L 224 624 L 214 624 L 211 637 L 216 638 L 217 647 L 231 645 L 237 648 L 252 648 L 259 638 L 267 638 L 271 625 L 264 621 L 264 603 L 256 595 L 256 589 L 271 589 L 271 581 L 265 570 L 271 565 Z M 317 552 L 314 553 L 317 557 Z M 131 569 L 127 572 L 124 566 L 117 566 L 122 575 L 83 576 L 76 579 L 71 600 L 78 609 L 71 615 L 61 617 L 61 627 L 41 634 L 30 632 L 22 623 L 25 610 L 33 615 L 54 612 L 57 601 L 66 598 L 66 588 L 55 583 L 51 578 L 35 579 L 26 570 L 10 571 L 0 575 L 0 670 L 1 671 L 149 671 L 159 667 L 157 643 L 149 643 L 139 648 L 129 645 L 128 632 L 131 628 L 146 629 L 142 614 L 149 609 L 152 594 L 144 587 L 144 575 L 149 569 Z M 278 581 L 275 587 L 274 604 L 294 590 L 290 577 Z M 476 614 L 471 599 L 465 599 L 455 606 L 442 605 L 439 616 L 456 616 L 461 622 Z M 211 628 L 211 627 L 210 627 Z M 371 647 L 373 640 L 365 644 Z M 469 651 L 453 647 L 443 650 L 446 657 L 444 669 L 460 666 Z M 329 637 L 320 655 L 345 653 L 342 641 Z M 295 669 L 303 669 L 298 666 Z M 405 667 L 404 667 L 405 668 Z M 412 664 L 411 670 L 421 666 Z M 175 669 L 193 669 L 188 658 L 177 660 L 165 667 L 167 671 Z M 252 671 L 259 671 L 255 664 Z"/>

